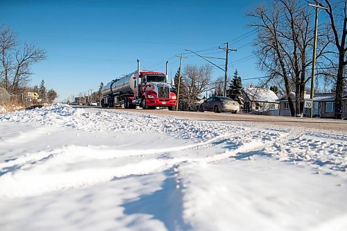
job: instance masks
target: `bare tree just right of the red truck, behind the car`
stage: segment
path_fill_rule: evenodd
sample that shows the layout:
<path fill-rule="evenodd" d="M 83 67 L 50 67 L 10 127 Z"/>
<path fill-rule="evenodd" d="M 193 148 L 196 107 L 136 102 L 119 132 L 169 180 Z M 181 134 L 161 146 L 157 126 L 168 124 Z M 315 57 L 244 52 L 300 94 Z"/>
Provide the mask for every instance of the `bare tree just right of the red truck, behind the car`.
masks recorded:
<path fill-rule="evenodd" d="M 187 65 L 182 76 L 182 92 L 180 100 L 185 110 L 195 110 L 199 96 L 208 89 L 212 69 L 210 66 L 196 67 Z"/>

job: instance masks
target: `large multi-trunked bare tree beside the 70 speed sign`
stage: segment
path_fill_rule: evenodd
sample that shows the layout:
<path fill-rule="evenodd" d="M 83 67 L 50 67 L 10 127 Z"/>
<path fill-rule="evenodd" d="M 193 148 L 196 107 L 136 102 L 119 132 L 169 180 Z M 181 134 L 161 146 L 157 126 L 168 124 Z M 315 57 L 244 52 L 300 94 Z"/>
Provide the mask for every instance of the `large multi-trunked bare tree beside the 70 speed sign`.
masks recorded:
<path fill-rule="evenodd" d="M 279 0 L 272 3 L 271 9 L 257 6 L 251 17 L 250 26 L 257 28 L 254 44 L 258 67 L 269 73 L 271 80 L 280 79 L 284 83 L 284 94 L 289 101 L 291 116 L 303 114 L 305 85 L 311 79 L 307 67 L 312 65 L 312 39 L 310 14 L 307 7 L 298 0 Z M 317 57 L 325 53 L 328 42 L 321 40 Z M 281 87 L 280 87 L 281 88 Z M 295 108 L 290 93 L 295 91 Z"/>

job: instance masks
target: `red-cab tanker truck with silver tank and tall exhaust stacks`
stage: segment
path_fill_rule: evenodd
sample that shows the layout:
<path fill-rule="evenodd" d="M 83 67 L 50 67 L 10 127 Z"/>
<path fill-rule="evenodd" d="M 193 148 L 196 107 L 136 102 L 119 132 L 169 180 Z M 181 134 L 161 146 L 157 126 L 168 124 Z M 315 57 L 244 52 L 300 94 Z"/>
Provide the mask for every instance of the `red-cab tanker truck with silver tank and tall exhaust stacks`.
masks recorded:
<path fill-rule="evenodd" d="M 168 62 L 167 62 L 168 71 Z M 167 83 L 167 72 L 163 74 L 155 71 L 140 71 L 137 60 L 137 71 L 126 76 L 112 80 L 101 89 L 102 108 L 135 108 L 154 109 L 164 107 L 174 110 L 176 107 L 176 94 L 172 85 Z"/>

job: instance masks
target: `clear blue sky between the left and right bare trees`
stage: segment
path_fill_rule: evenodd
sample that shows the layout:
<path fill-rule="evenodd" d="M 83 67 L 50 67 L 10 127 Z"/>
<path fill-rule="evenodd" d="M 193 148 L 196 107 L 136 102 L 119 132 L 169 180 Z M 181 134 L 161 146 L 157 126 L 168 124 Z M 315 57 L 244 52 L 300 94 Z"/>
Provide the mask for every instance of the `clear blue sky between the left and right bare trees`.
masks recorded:
<path fill-rule="evenodd" d="M 256 69 L 251 42 L 253 28 L 246 26 L 246 10 L 264 1 L 15 1 L 2 0 L 0 23 L 10 26 L 20 42 L 33 42 L 47 53 L 48 59 L 33 66 L 31 85 L 43 79 L 55 89 L 59 101 L 71 95 L 97 90 L 123 74 L 141 67 L 165 71 L 169 78 L 179 65 L 175 55 L 185 49 L 224 58 L 217 49 L 230 42 L 228 74 L 235 69 L 243 78 L 262 76 Z M 244 35 L 243 37 L 240 37 Z M 183 66 L 207 62 L 185 54 Z M 211 60 L 223 67 L 223 60 Z M 213 68 L 212 79 L 223 76 Z M 244 85 L 257 80 L 244 80 Z"/>

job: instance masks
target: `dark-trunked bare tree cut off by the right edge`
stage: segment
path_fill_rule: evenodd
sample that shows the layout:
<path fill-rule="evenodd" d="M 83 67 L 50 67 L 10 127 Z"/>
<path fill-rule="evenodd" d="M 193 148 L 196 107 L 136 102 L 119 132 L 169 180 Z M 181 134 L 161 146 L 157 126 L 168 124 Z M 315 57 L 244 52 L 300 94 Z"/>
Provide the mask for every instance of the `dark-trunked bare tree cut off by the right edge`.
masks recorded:
<path fill-rule="evenodd" d="M 325 12 L 328 13 L 330 18 L 330 26 L 334 35 L 338 59 L 335 87 L 335 119 L 341 119 L 341 96 L 344 89 L 346 89 L 346 75 L 344 72 L 347 65 L 347 0 L 339 0 L 334 4 L 330 0 L 325 0 L 325 3 L 327 4 Z"/>

